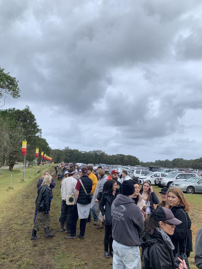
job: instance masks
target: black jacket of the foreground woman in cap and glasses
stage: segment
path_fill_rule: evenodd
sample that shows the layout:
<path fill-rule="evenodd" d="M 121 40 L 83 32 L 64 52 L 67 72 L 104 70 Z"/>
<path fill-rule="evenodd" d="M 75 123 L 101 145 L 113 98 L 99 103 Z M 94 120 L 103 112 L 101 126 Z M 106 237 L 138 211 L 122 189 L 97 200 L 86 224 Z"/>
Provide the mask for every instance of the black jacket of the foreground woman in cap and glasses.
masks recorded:
<path fill-rule="evenodd" d="M 175 269 L 172 249 L 164 242 L 159 231 L 145 233 L 140 240 L 144 249 L 142 269 Z"/>

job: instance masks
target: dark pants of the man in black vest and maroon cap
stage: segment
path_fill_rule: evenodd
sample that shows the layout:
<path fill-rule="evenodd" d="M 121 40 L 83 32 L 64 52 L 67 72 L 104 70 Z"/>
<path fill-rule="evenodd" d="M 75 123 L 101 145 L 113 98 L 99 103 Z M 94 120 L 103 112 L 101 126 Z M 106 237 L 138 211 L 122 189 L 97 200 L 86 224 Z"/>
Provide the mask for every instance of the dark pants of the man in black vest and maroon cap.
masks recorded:
<path fill-rule="evenodd" d="M 76 236 L 76 223 L 79 218 L 77 204 L 74 205 L 72 214 L 71 214 L 71 224 L 70 224 L 70 235 Z M 87 218 L 80 219 L 80 235 L 85 235 L 85 226 Z"/>

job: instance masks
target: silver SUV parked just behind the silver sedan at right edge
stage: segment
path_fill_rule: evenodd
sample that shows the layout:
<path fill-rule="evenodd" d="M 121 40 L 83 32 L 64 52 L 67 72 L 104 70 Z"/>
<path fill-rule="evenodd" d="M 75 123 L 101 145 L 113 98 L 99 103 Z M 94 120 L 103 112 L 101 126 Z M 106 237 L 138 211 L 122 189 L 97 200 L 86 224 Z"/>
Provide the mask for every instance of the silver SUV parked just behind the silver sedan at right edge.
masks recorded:
<path fill-rule="evenodd" d="M 190 177 L 198 177 L 197 174 L 194 173 L 169 173 L 166 177 L 162 178 L 161 186 L 169 188 L 172 182 L 176 181 L 185 181 Z M 179 180 L 178 180 L 179 179 Z"/>

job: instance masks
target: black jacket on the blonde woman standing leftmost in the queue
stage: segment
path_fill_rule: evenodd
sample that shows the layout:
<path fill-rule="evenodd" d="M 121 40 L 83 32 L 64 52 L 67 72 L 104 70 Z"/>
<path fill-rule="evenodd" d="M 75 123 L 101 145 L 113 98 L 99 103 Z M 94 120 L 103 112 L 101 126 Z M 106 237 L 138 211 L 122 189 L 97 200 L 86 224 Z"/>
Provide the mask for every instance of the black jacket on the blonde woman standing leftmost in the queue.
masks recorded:
<path fill-rule="evenodd" d="M 50 191 L 51 188 L 48 185 L 39 186 L 38 196 L 36 198 L 36 208 L 38 211 L 45 211 L 48 214 L 50 210 Z"/>

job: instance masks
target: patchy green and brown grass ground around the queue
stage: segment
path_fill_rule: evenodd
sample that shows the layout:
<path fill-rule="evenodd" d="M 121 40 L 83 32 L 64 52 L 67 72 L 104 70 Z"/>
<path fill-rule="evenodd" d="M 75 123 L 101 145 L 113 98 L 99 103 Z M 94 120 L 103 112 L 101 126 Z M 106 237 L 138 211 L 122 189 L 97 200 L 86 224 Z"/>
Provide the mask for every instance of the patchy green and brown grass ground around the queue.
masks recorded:
<path fill-rule="evenodd" d="M 54 166 L 49 167 L 53 172 Z M 39 169 L 38 169 L 39 170 Z M 104 258 L 104 230 L 97 230 L 93 222 L 86 224 L 85 240 L 67 240 L 60 233 L 61 198 L 60 182 L 56 180 L 51 202 L 51 226 L 55 233 L 51 239 L 44 238 L 44 230 L 37 234 L 40 240 L 31 241 L 31 231 L 37 196 L 36 184 L 43 170 L 35 175 L 35 168 L 26 168 L 25 182 L 21 181 L 22 171 L 0 170 L 0 268 L 1 269 L 112 269 L 112 258 Z M 9 189 L 10 176 L 13 175 L 13 188 Z M 31 174 L 31 176 L 30 176 Z M 159 195 L 160 188 L 154 187 Z M 200 228 L 202 195 L 186 195 L 190 204 L 192 223 Z M 79 221 L 78 221 L 79 233 Z M 194 255 L 190 257 L 191 268 Z"/>

